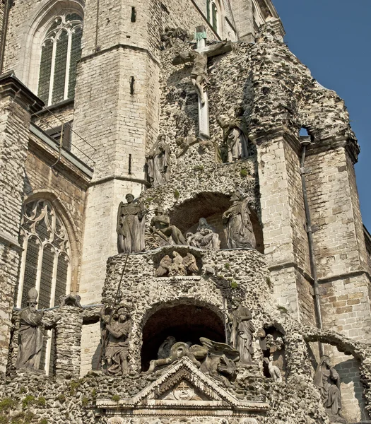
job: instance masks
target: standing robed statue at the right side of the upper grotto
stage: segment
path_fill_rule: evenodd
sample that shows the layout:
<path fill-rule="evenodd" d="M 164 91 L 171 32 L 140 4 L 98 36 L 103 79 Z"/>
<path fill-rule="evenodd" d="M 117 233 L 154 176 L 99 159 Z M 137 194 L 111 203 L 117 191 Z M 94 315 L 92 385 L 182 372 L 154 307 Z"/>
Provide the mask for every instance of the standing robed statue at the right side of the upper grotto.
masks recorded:
<path fill-rule="evenodd" d="M 241 200 L 237 193 L 230 200 L 232 206 L 223 213 L 223 225 L 227 245 L 230 249 L 255 249 L 256 241 L 247 199 Z"/>

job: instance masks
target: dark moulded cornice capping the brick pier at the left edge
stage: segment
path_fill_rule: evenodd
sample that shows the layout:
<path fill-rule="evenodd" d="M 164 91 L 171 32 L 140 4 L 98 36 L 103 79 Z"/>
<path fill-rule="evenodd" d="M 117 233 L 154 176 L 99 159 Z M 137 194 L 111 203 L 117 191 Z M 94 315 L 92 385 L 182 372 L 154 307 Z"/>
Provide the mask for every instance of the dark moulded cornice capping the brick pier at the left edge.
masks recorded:
<path fill-rule="evenodd" d="M 31 114 L 42 110 L 44 102 L 18 80 L 14 71 L 0 75 L 0 98 L 11 97 Z"/>

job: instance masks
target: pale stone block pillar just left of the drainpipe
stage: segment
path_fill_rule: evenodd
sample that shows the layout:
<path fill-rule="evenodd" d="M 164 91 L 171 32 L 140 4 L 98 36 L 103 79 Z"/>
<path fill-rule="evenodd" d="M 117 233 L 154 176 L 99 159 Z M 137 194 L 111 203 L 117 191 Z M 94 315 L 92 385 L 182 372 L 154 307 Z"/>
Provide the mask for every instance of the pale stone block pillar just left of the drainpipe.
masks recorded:
<path fill-rule="evenodd" d="M 283 131 L 260 134 L 257 142 L 264 253 L 278 304 L 315 325 L 300 145 Z"/>

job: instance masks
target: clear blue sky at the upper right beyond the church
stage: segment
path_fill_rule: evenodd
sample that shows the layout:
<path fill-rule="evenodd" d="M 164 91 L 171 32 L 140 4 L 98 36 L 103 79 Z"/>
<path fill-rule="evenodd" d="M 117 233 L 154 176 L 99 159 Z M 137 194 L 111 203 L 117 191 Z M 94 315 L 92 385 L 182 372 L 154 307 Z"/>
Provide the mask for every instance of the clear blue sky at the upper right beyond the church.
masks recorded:
<path fill-rule="evenodd" d="M 273 0 L 290 50 L 346 102 L 361 153 L 355 172 L 371 232 L 371 0 Z"/>

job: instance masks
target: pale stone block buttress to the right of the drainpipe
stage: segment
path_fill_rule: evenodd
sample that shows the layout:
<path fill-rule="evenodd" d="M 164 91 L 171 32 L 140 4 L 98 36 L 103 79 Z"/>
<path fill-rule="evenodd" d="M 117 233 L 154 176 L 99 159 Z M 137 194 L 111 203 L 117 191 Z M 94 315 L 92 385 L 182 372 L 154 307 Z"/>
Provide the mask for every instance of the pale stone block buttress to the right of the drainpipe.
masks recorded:
<path fill-rule="evenodd" d="M 307 166 L 324 326 L 370 341 L 370 281 L 353 164 L 338 147 L 310 155 Z"/>

